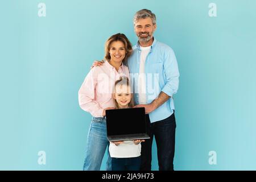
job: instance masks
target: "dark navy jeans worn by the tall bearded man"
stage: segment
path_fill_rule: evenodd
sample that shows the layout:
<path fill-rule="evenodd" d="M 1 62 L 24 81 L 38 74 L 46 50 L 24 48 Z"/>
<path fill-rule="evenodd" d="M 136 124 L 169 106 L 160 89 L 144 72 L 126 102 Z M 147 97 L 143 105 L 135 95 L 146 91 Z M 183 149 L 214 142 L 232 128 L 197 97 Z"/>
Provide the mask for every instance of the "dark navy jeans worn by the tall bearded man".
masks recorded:
<path fill-rule="evenodd" d="M 158 151 L 159 171 L 174 170 L 174 151 L 175 151 L 175 130 L 176 121 L 174 113 L 170 117 L 161 121 L 150 123 L 150 118 L 146 114 L 147 134 L 150 139 L 141 143 L 141 170 L 151 170 L 151 149 L 155 135 L 155 142 Z"/>

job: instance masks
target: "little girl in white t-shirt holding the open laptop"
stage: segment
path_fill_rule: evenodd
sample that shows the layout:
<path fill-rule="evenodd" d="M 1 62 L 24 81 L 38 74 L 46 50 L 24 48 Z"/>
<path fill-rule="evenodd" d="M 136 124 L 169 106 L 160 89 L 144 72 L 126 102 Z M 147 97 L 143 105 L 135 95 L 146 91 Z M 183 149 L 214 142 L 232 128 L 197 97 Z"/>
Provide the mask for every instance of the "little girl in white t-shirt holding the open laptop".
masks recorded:
<path fill-rule="evenodd" d="M 127 77 L 115 81 L 113 100 L 115 109 L 133 107 L 133 94 Z M 141 142 L 144 140 L 129 140 L 111 142 L 109 153 L 112 157 L 113 171 L 139 171 L 141 167 Z"/>

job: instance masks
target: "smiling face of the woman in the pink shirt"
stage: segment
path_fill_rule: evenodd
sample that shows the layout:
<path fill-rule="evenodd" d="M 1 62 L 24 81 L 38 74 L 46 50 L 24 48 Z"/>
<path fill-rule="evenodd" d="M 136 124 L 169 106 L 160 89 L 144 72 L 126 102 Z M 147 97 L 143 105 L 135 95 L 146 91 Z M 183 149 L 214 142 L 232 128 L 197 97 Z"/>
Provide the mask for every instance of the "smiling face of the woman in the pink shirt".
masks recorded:
<path fill-rule="evenodd" d="M 122 63 L 126 55 L 125 44 L 121 41 L 114 41 L 110 44 L 110 61 Z"/>

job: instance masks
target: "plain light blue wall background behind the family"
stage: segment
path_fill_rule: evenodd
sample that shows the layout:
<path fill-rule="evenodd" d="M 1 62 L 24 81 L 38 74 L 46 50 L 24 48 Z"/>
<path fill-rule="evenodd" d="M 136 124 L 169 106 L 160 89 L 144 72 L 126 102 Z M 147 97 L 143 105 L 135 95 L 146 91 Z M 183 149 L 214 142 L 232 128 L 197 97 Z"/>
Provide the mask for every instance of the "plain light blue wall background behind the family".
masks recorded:
<path fill-rule="evenodd" d="M 46 17 L 38 16 L 40 2 Z M 208 15 L 211 2 L 217 17 Z M 175 169 L 255 170 L 255 7 L 254 0 L 1 1 L 0 169 L 82 169 L 90 114 L 77 92 L 110 35 L 137 42 L 133 15 L 146 8 L 156 14 L 155 38 L 179 64 Z M 155 142 L 152 151 L 157 170 Z"/>

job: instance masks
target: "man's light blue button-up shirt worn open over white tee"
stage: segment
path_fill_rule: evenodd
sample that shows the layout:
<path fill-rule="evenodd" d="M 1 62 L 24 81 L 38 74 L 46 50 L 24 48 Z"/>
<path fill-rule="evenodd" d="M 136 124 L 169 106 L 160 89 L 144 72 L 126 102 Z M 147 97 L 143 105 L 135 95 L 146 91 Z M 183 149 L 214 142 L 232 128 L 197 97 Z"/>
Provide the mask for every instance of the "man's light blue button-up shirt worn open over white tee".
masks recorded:
<path fill-rule="evenodd" d="M 139 104 L 138 79 L 140 59 L 141 49 L 139 43 L 137 43 L 137 45 L 133 47 L 133 54 L 127 61 L 136 105 Z M 156 122 L 166 119 L 174 113 L 174 100 L 172 96 L 177 92 L 179 87 L 179 69 L 172 48 L 154 39 L 151 50 L 146 57 L 144 73 L 146 76 L 147 104 L 155 100 L 161 91 L 171 96 L 163 105 L 149 113 L 150 121 Z"/>

